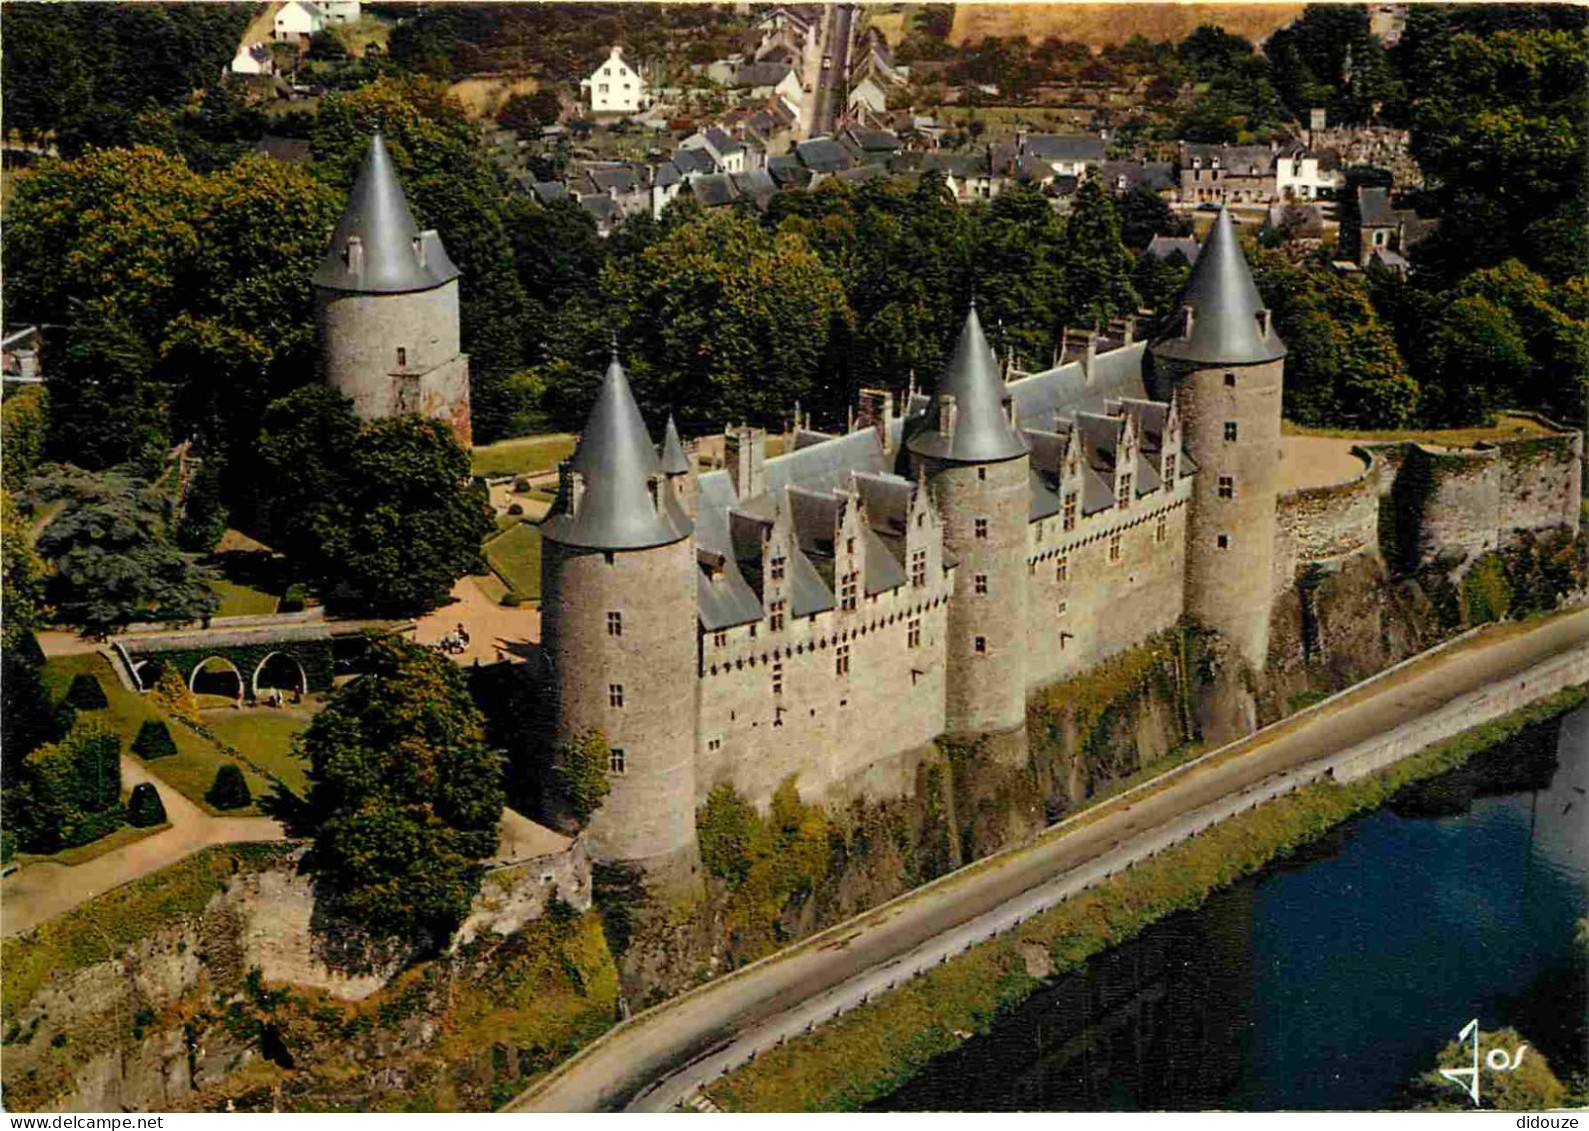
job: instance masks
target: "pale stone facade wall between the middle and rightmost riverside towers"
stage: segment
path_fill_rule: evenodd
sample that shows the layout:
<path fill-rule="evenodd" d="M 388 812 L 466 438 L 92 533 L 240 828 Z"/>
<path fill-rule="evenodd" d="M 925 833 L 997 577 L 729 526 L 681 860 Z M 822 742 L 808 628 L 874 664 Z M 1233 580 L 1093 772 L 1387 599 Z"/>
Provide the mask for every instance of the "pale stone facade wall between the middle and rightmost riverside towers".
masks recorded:
<path fill-rule="evenodd" d="M 1184 610 L 1192 478 L 1131 508 L 1026 531 L 1026 689 L 1068 680 L 1174 624 Z M 1109 546 L 1120 535 L 1120 558 Z M 1061 577 L 1063 562 L 1063 577 Z"/>

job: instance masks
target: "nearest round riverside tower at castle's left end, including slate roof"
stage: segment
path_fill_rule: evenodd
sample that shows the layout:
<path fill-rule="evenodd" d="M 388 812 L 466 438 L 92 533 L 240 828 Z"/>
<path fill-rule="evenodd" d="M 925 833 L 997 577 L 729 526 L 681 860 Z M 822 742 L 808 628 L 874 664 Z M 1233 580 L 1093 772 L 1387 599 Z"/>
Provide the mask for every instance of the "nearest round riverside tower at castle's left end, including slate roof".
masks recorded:
<path fill-rule="evenodd" d="M 682 451 L 682 450 L 680 450 Z M 601 731 L 610 793 L 586 842 L 669 882 L 696 863 L 696 551 L 617 349 L 542 523 L 556 740 Z"/>

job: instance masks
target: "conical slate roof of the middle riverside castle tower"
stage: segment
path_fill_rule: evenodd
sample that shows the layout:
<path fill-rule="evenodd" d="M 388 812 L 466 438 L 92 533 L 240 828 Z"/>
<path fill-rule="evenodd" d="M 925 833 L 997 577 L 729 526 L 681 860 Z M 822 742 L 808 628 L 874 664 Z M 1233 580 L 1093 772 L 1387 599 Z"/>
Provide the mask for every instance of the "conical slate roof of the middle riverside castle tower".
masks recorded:
<path fill-rule="evenodd" d="M 955 421 L 947 435 L 941 427 L 938 400 L 945 392 L 955 397 Z M 966 313 L 955 353 L 933 389 L 926 419 L 906 446 L 918 456 L 966 464 L 992 464 L 1026 454 L 1026 442 L 1004 411 L 1004 381 L 998 375 L 993 346 L 982 334 L 976 300 Z"/>

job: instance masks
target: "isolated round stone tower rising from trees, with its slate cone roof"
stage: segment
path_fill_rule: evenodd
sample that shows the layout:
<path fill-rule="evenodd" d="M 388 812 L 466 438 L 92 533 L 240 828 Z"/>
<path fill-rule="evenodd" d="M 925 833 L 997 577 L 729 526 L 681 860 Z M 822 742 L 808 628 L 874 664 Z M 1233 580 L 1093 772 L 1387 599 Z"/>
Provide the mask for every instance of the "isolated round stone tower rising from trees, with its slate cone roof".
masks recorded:
<path fill-rule="evenodd" d="M 458 276 L 442 238 L 415 222 L 386 143 L 373 135 L 313 275 L 326 383 L 351 397 L 362 419 L 434 416 L 469 446 Z"/>

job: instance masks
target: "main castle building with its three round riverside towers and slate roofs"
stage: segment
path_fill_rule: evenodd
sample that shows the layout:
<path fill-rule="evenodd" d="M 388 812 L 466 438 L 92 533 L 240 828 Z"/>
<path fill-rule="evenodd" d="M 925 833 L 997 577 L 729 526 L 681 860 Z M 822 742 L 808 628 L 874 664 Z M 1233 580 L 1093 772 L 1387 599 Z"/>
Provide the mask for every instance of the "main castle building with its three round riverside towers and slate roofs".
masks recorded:
<path fill-rule="evenodd" d="M 972 305 L 930 396 L 777 457 L 653 445 L 615 353 L 542 524 L 556 739 L 612 748 L 593 856 L 679 874 L 720 782 L 907 791 L 939 735 L 1023 748 L 1028 691 L 1187 612 L 1262 667 L 1284 356 L 1224 213 L 1170 335 L 1006 383 Z"/>

